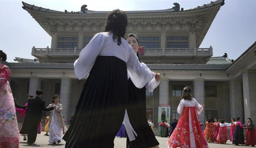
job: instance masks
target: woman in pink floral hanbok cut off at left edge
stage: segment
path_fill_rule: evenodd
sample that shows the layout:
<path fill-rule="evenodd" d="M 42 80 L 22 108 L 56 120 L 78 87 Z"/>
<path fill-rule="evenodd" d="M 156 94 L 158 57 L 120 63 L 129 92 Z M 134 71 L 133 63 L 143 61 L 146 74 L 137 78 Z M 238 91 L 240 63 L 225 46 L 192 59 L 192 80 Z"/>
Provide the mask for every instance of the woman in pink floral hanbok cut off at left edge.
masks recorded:
<path fill-rule="evenodd" d="M 2 63 L 6 59 L 6 54 L 0 50 L 0 148 L 19 148 L 16 110 L 8 82 L 11 71 Z"/>

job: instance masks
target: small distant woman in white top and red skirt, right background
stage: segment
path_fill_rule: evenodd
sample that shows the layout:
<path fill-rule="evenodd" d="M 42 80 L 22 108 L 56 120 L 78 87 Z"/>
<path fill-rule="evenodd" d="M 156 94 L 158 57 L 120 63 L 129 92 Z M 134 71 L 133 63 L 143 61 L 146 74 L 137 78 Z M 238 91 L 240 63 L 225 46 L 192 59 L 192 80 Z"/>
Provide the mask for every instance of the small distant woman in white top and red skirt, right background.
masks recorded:
<path fill-rule="evenodd" d="M 224 120 L 221 120 L 220 123 L 220 129 L 218 132 L 218 136 L 217 136 L 217 143 L 226 143 L 228 140 L 228 128 L 227 128 L 227 124 L 224 123 Z"/>

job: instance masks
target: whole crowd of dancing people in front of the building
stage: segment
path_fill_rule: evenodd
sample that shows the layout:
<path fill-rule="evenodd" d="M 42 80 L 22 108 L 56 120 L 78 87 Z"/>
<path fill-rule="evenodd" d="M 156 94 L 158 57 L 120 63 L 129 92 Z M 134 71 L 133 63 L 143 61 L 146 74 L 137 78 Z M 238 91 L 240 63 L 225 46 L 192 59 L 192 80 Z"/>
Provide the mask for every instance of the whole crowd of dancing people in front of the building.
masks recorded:
<path fill-rule="evenodd" d="M 151 129 L 153 122 L 145 120 L 145 90 L 153 92 L 160 83 L 161 75 L 140 61 L 136 35 L 131 33 L 124 37 L 127 25 L 124 11 L 113 10 L 107 16 L 105 32 L 95 34 L 74 62 L 78 79 L 88 77 L 68 130 L 61 114 L 63 106 L 59 103 L 59 96 L 54 96 L 52 103 L 45 107 L 43 91 L 36 90 L 36 96 L 28 97 L 25 106 L 19 105 L 8 82 L 11 72 L 0 62 L 0 147 L 18 148 L 19 133 L 27 135 L 27 143 L 32 145 L 42 111 L 50 111 L 44 128 L 50 144 L 57 144 L 63 139 L 65 148 L 114 148 L 116 133 L 123 124 L 127 133 L 126 148 L 159 148 Z M 0 60 L 5 61 L 6 58 L 0 50 Z M 20 131 L 16 108 L 23 109 L 21 112 L 25 115 Z M 227 141 L 227 123 L 224 120 L 221 123 L 217 119 L 208 121 L 205 132 L 202 131 L 198 114 L 203 110 L 204 105 L 192 98 L 191 88 L 185 87 L 177 108 L 181 115 L 179 121 L 173 120 L 170 131 L 166 120 L 159 124 L 159 135 L 169 137 L 168 148 L 208 148 L 207 142 Z M 239 118 L 236 123 L 232 120 L 232 142 L 254 146 L 256 133 L 252 120 L 248 118 L 247 125 L 242 125 Z M 102 121 L 104 124 L 99 126 Z M 246 142 L 243 129 L 247 130 Z"/>

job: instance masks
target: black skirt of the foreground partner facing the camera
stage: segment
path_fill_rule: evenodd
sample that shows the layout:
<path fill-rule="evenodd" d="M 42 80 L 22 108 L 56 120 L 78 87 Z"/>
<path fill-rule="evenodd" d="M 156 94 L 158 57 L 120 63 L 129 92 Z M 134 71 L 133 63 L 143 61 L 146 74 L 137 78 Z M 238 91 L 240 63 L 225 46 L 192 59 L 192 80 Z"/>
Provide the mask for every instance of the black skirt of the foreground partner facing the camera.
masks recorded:
<path fill-rule="evenodd" d="M 132 80 L 128 80 L 127 114 L 134 131 L 138 134 L 136 140 L 127 138 L 126 148 L 149 148 L 159 145 L 146 118 L 146 87 L 138 89 Z"/>

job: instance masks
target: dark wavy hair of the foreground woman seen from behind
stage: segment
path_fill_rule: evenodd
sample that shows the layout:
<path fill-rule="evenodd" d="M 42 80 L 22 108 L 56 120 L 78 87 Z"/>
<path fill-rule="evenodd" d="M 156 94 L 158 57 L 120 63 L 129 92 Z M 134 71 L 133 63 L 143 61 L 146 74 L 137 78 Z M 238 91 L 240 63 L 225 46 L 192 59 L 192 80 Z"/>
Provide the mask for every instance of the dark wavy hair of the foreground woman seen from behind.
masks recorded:
<path fill-rule="evenodd" d="M 107 16 L 105 32 L 113 33 L 113 41 L 117 38 L 117 45 L 121 45 L 127 25 L 128 19 L 124 11 L 116 9 Z"/>

